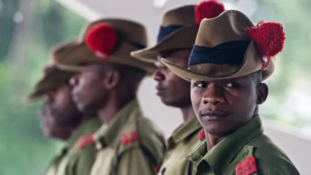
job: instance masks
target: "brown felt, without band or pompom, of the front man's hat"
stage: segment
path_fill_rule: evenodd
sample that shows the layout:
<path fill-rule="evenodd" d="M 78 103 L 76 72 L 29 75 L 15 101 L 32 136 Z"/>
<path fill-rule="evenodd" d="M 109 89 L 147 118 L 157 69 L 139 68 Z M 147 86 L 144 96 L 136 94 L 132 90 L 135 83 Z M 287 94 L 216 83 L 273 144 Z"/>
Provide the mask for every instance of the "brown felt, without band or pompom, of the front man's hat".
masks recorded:
<path fill-rule="evenodd" d="M 255 27 L 255 25 L 245 14 L 237 10 L 227 10 L 216 18 L 205 18 L 201 21 L 194 45 L 215 48 L 220 44 L 231 41 L 250 40 L 251 38 L 248 37 L 246 32 L 250 27 Z M 270 38 L 266 39 L 268 40 Z M 193 54 L 193 50 L 191 54 Z M 201 59 L 209 58 L 208 56 L 204 56 Z M 267 58 L 259 55 L 255 41 L 251 40 L 244 53 L 241 65 L 202 63 L 190 65 L 188 68 L 185 68 L 164 58 L 161 58 L 161 62 L 176 75 L 187 81 L 191 81 L 191 79 L 210 81 L 236 78 L 257 70 L 262 70 L 262 78 L 265 80 L 275 70 L 276 57 Z M 263 64 L 267 64 L 267 66 L 262 68 Z"/>

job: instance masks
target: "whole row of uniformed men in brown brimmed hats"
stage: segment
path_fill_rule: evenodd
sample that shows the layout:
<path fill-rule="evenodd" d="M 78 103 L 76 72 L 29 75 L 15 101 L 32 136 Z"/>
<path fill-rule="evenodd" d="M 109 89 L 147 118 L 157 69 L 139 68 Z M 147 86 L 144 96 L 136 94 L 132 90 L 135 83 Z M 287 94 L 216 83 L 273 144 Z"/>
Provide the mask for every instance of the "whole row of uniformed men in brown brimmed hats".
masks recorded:
<path fill-rule="evenodd" d="M 284 40 L 281 24 L 215 0 L 166 12 L 154 47 L 137 22 L 87 24 L 52 49 L 29 97 L 45 98 L 44 131 L 66 141 L 46 175 L 299 175 L 258 115 Z M 152 74 L 184 119 L 167 141 L 136 99 Z"/>

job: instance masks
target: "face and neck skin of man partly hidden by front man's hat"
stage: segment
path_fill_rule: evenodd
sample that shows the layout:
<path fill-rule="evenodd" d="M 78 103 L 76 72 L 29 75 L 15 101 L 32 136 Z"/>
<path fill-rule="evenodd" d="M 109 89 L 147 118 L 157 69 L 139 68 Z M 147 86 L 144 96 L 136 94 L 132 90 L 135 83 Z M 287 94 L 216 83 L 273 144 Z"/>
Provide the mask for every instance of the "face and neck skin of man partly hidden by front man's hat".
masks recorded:
<path fill-rule="evenodd" d="M 160 53 L 159 56 L 179 66 L 187 67 L 190 53 L 190 49 L 170 50 Z M 175 75 L 161 62 L 158 63 L 154 79 L 158 82 L 156 94 L 165 105 L 180 108 L 184 123 L 195 118 L 190 99 L 190 82 Z"/>

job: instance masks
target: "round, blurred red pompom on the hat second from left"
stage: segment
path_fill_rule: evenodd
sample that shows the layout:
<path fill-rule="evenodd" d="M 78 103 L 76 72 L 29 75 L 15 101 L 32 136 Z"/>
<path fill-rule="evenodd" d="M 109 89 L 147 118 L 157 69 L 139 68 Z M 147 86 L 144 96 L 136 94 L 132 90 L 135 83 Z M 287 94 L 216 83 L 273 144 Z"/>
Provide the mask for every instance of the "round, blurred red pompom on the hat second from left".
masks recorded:
<path fill-rule="evenodd" d="M 104 60 L 113 53 L 116 42 L 117 33 L 107 23 L 97 24 L 86 33 L 86 45 Z"/>

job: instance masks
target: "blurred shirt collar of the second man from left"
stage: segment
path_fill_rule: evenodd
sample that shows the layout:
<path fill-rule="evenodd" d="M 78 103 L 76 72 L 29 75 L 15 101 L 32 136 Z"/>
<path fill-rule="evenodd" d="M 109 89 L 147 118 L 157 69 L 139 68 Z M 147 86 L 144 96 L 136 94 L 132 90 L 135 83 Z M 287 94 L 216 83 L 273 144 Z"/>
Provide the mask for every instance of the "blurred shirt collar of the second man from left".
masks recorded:
<path fill-rule="evenodd" d="M 140 107 L 137 100 L 133 100 L 121 108 L 110 123 L 104 123 L 102 127 L 95 132 L 94 139 L 97 144 L 100 144 L 99 147 L 106 146 L 118 139 L 123 126 L 130 118 L 137 118 L 140 116 L 137 115 L 138 113 L 140 114 Z"/>

